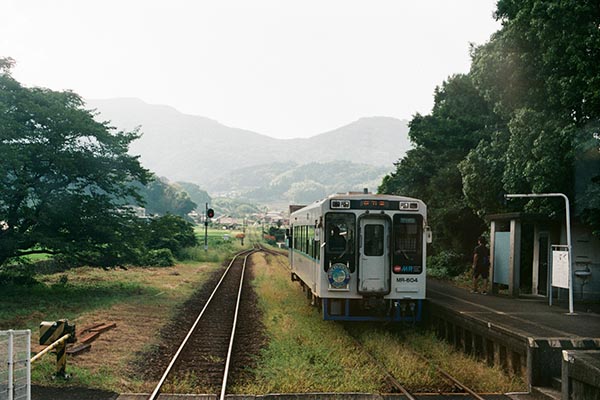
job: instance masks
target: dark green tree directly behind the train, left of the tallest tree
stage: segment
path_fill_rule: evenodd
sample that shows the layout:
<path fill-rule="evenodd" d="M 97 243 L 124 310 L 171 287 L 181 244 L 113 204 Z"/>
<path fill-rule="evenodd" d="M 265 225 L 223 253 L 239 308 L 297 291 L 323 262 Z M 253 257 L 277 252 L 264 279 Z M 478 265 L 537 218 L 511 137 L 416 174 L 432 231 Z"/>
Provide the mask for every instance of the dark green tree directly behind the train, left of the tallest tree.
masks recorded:
<path fill-rule="evenodd" d="M 436 88 L 431 114 L 417 114 L 409 124 L 415 148 L 396 163 L 379 192 L 425 201 L 435 250 L 470 254 L 485 227 L 465 199 L 458 164 L 496 124 L 497 117 L 466 75 L 452 76 Z"/>

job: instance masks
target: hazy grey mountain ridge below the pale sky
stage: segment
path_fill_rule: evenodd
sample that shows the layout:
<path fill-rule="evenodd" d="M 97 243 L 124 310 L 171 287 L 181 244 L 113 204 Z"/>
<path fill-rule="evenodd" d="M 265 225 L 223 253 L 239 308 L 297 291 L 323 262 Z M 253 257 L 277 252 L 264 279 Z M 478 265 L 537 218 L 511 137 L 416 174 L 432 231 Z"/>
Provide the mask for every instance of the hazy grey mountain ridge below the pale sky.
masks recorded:
<path fill-rule="evenodd" d="M 139 99 L 88 100 L 87 105 L 118 129 L 141 126 L 143 136 L 130 152 L 139 154 L 146 168 L 171 181 L 195 183 L 211 194 L 258 198 L 270 188 L 272 195 L 296 199 L 295 190 L 306 186 L 302 182 L 341 191 L 371 183 L 375 190 L 410 148 L 407 122 L 389 117 L 362 118 L 307 139 L 275 139 Z M 312 167 L 302 167 L 307 164 Z M 361 179 L 364 183 L 357 181 Z"/>

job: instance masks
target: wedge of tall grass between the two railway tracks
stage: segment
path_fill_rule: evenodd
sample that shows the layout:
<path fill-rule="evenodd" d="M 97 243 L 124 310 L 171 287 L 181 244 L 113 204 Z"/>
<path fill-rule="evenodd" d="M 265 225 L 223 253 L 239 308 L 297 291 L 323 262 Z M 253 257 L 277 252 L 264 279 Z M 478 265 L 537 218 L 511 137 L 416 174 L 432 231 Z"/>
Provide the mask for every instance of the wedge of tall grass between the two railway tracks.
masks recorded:
<path fill-rule="evenodd" d="M 300 287 L 289 282 L 289 272 L 259 257 L 254 258 L 254 285 L 269 343 L 254 371 L 256 379 L 232 392 L 377 392 L 380 375 L 365 363 L 343 327 L 321 320 Z"/>

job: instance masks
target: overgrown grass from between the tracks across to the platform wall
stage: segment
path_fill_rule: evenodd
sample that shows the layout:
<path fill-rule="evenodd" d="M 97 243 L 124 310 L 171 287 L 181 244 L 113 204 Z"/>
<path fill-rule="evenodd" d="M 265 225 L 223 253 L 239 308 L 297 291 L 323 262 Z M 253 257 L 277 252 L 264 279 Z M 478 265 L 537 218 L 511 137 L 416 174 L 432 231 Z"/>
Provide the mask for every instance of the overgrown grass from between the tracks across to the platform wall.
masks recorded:
<path fill-rule="evenodd" d="M 255 370 L 256 379 L 238 385 L 233 391 L 254 394 L 388 391 L 381 373 L 360 353 L 342 325 L 322 321 L 317 310 L 308 305 L 300 286 L 290 281 L 285 266 L 273 261 L 272 256 L 260 257 L 255 258 L 254 285 L 269 343 Z M 525 389 L 520 379 L 455 351 L 428 332 L 414 328 L 390 331 L 372 325 L 352 325 L 351 329 L 411 390 L 450 390 L 452 386 L 411 356 L 408 349 L 426 354 L 478 391 Z"/>

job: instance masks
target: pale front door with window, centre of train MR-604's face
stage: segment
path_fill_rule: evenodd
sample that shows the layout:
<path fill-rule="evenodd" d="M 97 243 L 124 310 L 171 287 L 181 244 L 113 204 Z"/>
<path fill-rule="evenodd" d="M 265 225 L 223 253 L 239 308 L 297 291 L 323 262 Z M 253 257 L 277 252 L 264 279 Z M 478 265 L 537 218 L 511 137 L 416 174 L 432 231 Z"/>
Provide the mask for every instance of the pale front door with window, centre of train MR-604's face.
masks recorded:
<path fill-rule="evenodd" d="M 389 221 L 381 218 L 360 220 L 358 292 L 390 292 Z"/>

